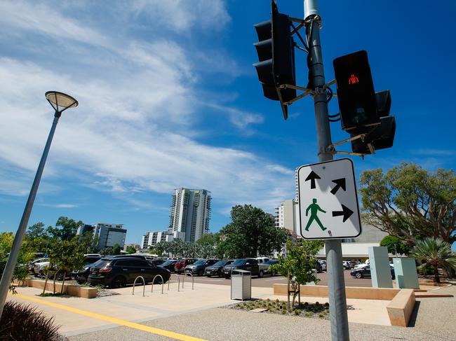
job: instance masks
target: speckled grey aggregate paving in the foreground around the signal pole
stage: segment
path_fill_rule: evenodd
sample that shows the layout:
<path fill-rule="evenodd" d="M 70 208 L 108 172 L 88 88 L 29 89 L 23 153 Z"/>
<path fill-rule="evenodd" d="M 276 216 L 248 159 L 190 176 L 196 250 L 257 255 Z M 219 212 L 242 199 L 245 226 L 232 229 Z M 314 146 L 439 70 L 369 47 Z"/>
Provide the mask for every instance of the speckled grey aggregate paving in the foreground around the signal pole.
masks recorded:
<path fill-rule="evenodd" d="M 438 292 L 456 296 L 456 286 L 440 288 Z M 350 340 L 456 340 L 456 298 L 422 298 L 417 300 L 412 325 L 408 328 L 349 323 Z M 327 320 L 307 319 L 276 314 L 255 314 L 234 309 L 213 308 L 181 314 L 169 319 L 142 322 L 145 326 L 172 330 L 214 341 L 293 341 L 330 340 Z M 158 335 L 144 335 L 125 327 L 69 337 L 70 341 L 102 340 L 170 340 Z"/>

